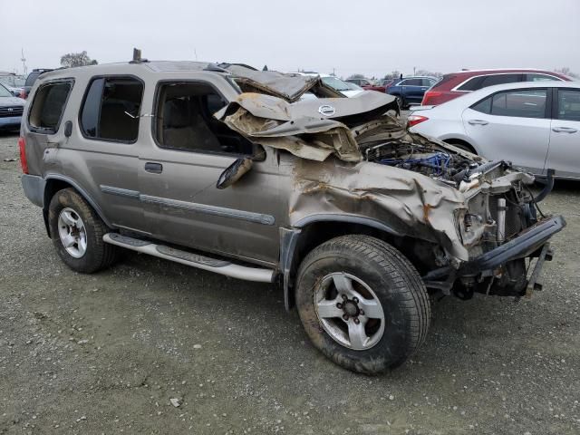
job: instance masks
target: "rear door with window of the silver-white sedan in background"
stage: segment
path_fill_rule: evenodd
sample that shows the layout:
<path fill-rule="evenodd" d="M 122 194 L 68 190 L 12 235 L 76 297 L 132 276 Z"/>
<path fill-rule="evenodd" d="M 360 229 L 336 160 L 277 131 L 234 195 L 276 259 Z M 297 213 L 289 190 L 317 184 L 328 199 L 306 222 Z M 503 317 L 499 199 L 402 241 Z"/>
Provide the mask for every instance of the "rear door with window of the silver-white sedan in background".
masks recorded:
<path fill-rule="evenodd" d="M 463 126 L 478 152 L 541 174 L 550 141 L 547 89 L 496 92 L 463 111 Z"/>

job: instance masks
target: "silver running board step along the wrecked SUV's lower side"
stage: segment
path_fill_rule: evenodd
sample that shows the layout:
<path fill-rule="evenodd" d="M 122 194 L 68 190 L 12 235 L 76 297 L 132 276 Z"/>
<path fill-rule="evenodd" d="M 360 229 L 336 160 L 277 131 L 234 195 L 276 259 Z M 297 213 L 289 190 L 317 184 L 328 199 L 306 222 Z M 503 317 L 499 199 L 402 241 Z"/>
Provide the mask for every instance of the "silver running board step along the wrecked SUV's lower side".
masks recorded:
<path fill-rule="evenodd" d="M 219 260 L 208 256 L 200 256 L 191 252 L 157 245 L 147 240 L 121 236 L 118 233 L 107 233 L 102 240 L 111 245 L 125 247 L 132 251 L 149 254 L 150 256 L 159 256 L 169 261 L 175 261 L 186 266 L 198 267 L 198 269 L 215 272 L 219 275 L 231 276 L 232 278 L 245 279 L 247 281 L 256 281 L 260 283 L 271 283 L 274 281 L 275 271 L 262 267 L 239 266 L 230 263 L 227 260 Z"/>

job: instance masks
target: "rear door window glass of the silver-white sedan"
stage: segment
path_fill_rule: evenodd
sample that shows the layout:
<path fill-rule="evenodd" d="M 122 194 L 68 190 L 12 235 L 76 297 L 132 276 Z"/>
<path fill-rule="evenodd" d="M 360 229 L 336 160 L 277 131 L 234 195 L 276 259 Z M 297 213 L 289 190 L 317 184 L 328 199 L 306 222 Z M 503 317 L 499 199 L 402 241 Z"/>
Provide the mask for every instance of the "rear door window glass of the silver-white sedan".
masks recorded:
<path fill-rule="evenodd" d="M 496 116 L 545 118 L 546 102 L 546 89 L 522 89 L 494 93 L 471 106 L 471 109 Z"/>

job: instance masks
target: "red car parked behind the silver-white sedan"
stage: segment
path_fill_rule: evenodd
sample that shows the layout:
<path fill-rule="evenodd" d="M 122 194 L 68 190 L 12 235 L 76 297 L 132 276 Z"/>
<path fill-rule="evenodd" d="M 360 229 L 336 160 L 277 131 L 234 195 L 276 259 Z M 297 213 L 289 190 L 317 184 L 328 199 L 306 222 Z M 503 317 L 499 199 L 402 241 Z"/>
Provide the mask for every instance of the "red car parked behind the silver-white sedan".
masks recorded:
<path fill-rule="evenodd" d="M 513 82 L 540 82 L 556 80 L 571 82 L 564 74 L 543 70 L 507 69 L 507 70 L 468 70 L 459 73 L 445 74 L 429 91 L 425 92 L 421 106 L 435 106 L 449 102 L 465 92 L 477 91 L 494 84 Z"/>

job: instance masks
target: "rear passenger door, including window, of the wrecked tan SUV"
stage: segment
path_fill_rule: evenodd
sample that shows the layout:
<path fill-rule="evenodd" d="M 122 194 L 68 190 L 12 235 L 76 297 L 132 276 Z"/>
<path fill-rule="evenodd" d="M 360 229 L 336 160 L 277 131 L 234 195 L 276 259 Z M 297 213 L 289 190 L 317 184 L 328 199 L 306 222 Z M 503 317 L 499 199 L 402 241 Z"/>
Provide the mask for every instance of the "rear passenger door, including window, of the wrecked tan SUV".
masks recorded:
<path fill-rule="evenodd" d="M 139 200 L 140 107 L 144 84 L 134 76 L 93 77 L 69 121 L 78 122 L 59 160 L 118 227 L 143 231 Z"/>

